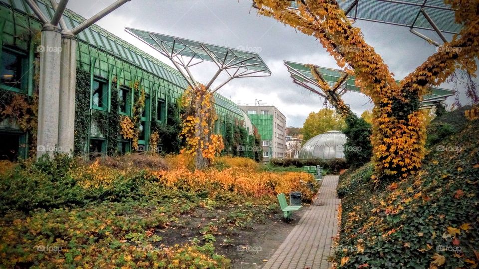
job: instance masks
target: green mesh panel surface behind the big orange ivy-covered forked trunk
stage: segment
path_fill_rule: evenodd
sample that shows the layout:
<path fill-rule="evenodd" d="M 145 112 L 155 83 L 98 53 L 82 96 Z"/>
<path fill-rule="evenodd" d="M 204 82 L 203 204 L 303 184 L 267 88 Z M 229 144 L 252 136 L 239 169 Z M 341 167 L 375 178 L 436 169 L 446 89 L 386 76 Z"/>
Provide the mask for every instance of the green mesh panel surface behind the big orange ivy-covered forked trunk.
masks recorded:
<path fill-rule="evenodd" d="M 291 74 L 293 80 L 309 84 L 311 82 L 308 80 L 316 81 L 313 74 L 311 73 L 311 68 L 308 65 L 289 61 L 284 61 L 284 65 L 286 65 L 286 67 L 288 68 L 288 71 Z M 336 82 L 346 74 L 346 72 L 342 70 L 326 67 L 317 67 L 317 70 L 321 74 L 323 79 L 328 83 L 329 87 L 333 87 Z M 355 80 L 356 78 L 354 76 L 348 76 L 348 78 L 341 86 L 342 89 L 353 92 L 361 92 L 361 89 L 356 86 Z M 400 83 L 399 80 L 396 80 L 396 82 L 398 84 Z M 430 89 L 431 91 L 423 96 L 423 100 L 421 102 L 422 106 L 426 105 L 426 101 L 444 101 L 447 97 L 455 94 L 455 91 L 444 88 L 430 87 Z"/>

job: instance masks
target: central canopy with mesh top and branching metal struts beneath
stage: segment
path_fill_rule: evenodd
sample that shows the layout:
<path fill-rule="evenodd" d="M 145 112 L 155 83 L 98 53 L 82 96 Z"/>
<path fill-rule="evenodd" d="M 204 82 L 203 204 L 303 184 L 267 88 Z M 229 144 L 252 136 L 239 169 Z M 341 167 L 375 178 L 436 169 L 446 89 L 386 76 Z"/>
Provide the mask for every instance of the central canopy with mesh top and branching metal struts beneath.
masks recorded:
<path fill-rule="evenodd" d="M 266 63 L 257 53 L 138 29 L 126 28 L 126 31 L 169 58 L 191 87 L 195 87 L 197 82 L 190 72 L 190 67 L 204 61 L 214 62 L 218 66 L 218 71 L 205 85 L 207 88 L 210 88 L 222 71 L 229 76 L 214 88 L 213 92 L 234 78 L 271 75 Z"/>

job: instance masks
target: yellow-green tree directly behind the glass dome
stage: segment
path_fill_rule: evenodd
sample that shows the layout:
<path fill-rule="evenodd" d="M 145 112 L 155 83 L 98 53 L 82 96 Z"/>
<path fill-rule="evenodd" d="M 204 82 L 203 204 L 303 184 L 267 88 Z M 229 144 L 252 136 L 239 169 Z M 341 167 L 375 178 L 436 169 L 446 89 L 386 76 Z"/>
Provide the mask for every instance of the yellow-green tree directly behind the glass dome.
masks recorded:
<path fill-rule="evenodd" d="M 318 112 L 311 112 L 304 122 L 301 134 L 303 142 L 308 141 L 318 134 L 331 130 L 343 130 L 346 127 L 344 119 L 333 109 L 321 109 Z"/>

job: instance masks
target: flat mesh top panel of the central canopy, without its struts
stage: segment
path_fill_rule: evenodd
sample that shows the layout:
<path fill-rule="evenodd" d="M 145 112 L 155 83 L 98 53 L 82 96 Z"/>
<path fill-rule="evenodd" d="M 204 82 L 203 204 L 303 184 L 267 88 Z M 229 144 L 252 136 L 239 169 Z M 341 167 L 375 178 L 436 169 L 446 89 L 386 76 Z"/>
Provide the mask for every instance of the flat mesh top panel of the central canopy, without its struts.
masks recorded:
<path fill-rule="evenodd" d="M 126 30 L 158 51 L 164 51 L 166 49 L 170 51 L 172 55 L 179 54 L 204 61 L 223 62 L 231 66 L 271 74 L 266 63 L 264 63 L 257 53 L 138 29 L 126 28 Z M 207 53 L 207 51 L 209 53 Z M 215 59 L 213 59 L 212 56 Z"/>

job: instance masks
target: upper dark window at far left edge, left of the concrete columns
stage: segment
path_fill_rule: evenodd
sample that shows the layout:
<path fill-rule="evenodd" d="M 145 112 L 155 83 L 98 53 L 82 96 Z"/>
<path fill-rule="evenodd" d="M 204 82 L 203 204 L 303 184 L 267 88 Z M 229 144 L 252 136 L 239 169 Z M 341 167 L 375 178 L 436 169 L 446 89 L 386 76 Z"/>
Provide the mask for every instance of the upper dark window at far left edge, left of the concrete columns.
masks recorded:
<path fill-rule="evenodd" d="M 7 86 L 10 90 L 24 88 L 25 81 L 28 79 L 28 76 L 23 74 L 26 65 L 26 56 L 3 47 L 1 51 L 0 84 Z"/>

